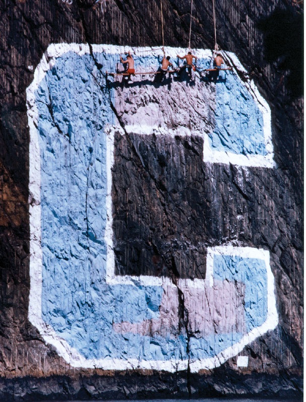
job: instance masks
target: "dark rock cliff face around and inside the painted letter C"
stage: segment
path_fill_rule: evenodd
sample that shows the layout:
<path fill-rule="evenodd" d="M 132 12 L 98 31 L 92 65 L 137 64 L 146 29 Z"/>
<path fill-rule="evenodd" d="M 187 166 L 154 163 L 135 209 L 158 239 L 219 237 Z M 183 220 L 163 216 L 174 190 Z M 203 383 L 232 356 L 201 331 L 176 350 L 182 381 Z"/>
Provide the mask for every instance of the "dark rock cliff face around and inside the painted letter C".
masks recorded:
<path fill-rule="evenodd" d="M 279 324 L 245 348 L 248 369 L 238 369 L 235 358 L 218 369 L 196 375 L 74 369 L 45 345 L 29 323 L 29 129 L 25 90 L 33 80 L 33 72 L 50 43 L 155 46 L 162 42 L 159 3 L 110 0 L 93 7 L 92 3 L 4 0 L 0 4 L 0 398 L 300 396 L 303 333 L 300 32 L 303 14 L 297 2 L 283 0 L 277 5 L 268 0 L 243 4 L 236 0 L 216 2 L 219 45 L 238 55 L 271 107 L 275 169 L 251 168 L 246 175 L 243 168 L 205 164 L 198 138 L 174 138 L 167 144 L 160 144 L 163 142 L 160 138 L 147 138 L 142 139 L 139 147 L 139 137 L 129 135 L 124 144 L 116 147 L 116 158 L 122 163 L 116 164 L 114 174 L 120 175 L 117 180 L 123 184 L 114 189 L 118 199 L 124 199 L 120 192 L 131 177 L 142 180 L 141 184 L 133 180 L 130 202 L 116 206 L 118 272 L 148 275 L 158 270 L 172 275 L 175 265 L 181 266 L 178 273 L 182 277 L 203 278 L 204 266 L 198 263 L 197 248 L 203 236 L 204 250 L 227 238 L 270 251 Z M 169 46 L 187 45 L 190 2 L 171 0 L 164 7 L 165 42 Z M 211 48 L 214 42 L 212 3 L 195 0 L 193 16 L 192 47 Z M 118 139 L 118 143 L 123 141 Z M 140 153 L 143 164 L 135 150 Z M 178 154 L 178 150 L 186 164 L 190 165 L 192 160 L 195 167 L 185 175 L 181 174 L 175 157 L 169 157 Z M 134 157 L 128 170 L 124 170 L 124 164 L 129 162 L 126 155 Z M 155 160 L 150 169 L 148 158 Z M 158 191 L 159 197 L 146 197 L 143 190 L 146 182 L 151 193 Z M 145 208 L 143 205 L 137 211 L 134 208 L 140 196 L 144 196 Z M 164 203 L 172 206 L 171 215 L 163 212 Z M 184 214 L 180 208 L 182 203 Z M 139 215 L 145 223 L 143 227 L 139 227 Z M 239 220 L 238 215 L 242 217 Z M 158 230 L 157 221 L 163 221 Z M 126 231 L 121 229 L 120 222 L 125 223 Z M 174 222 L 178 223 L 176 232 L 181 234 L 176 243 Z M 149 242 L 140 254 L 137 236 L 147 228 Z M 128 253 L 123 246 L 126 243 L 130 248 Z M 170 244 L 175 250 L 172 254 Z M 187 244 L 194 247 L 194 252 L 186 252 Z M 139 261 L 145 261 L 148 272 L 141 271 L 142 264 L 135 263 L 134 255 Z M 130 258 L 136 272 L 129 271 Z"/>

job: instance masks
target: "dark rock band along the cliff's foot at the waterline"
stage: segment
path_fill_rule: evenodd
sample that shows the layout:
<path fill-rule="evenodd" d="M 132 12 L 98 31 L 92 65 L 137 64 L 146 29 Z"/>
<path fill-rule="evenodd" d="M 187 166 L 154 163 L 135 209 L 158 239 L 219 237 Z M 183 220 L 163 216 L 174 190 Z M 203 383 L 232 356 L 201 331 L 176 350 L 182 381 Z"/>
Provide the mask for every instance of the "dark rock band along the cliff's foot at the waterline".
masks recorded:
<path fill-rule="evenodd" d="M 274 374 L 237 374 L 234 370 L 216 369 L 214 374 L 186 373 L 116 373 L 112 376 L 56 375 L 46 378 L 23 377 L 0 379 L 2 400 L 89 400 L 89 399 L 168 399 L 176 397 L 221 397 L 224 390 L 236 397 L 267 398 L 273 388 L 274 398 L 301 395 L 302 381 L 298 375 L 282 371 Z M 192 399 L 191 399 L 192 400 Z"/>

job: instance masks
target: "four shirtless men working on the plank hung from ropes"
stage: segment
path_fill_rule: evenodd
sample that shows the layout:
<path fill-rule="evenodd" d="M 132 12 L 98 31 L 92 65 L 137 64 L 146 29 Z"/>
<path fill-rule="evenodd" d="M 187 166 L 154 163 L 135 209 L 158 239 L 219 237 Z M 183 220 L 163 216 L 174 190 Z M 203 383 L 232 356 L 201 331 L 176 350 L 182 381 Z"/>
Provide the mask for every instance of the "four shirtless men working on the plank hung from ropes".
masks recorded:
<path fill-rule="evenodd" d="M 163 48 L 163 52 L 164 52 L 164 57 L 162 59 L 161 62 L 161 66 L 159 67 L 157 74 L 160 75 L 158 81 L 163 81 L 164 76 L 167 74 L 167 72 L 169 71 L 169 68 L 172 67 L 174 68 L 173 64 L 170 62 L 170 56 L 166 57 L 166 53 L 165 50 Z M 175 68 L 175 73 L 177 73 L 177 75 L 180 75 L 182 73 L 183 70 L 187 69 L 188 70 L 188 75 L 190 78 L 192 78 L 192 71 L 194 71 L 198 77 L 199 73 L 197 72 L 197 68 L 196 68 L 196 63 L 197 63 L 197 56 L 195 56 L 194 54 L 191 53 L 191 51 L 189 51 L 187 54 L 185 54 L 185 56 L 180 56 L 177 55 L 177 57 L 181 60 L 186 60 L 186 62 L 182 65 L 179 66 L 178 68 Z M 195 59 L 195 61 L 193 62 L 193 59 Z M 120 55 L 120 61 L 123 65 L 127 64 L 127 69 L 125 71 L 126 74 L 128 74 L 127 76 L 127 80 L 128 83 L 131 83 L 131 76 L 135 74 L 135 69 L 134 69 L 134 58 L 131 54 L 131 52 L 127 52 L 126 53 L 126 59 L 123 60 L 123 58 Z M 222 68 L 222 64 L 224 63 L 222 56 L 219 52 L 216 52 L 214 54 L 214 58 L 213 58 L 213 69 L 215 69 L 216 71 L 220 70 Z"/>

